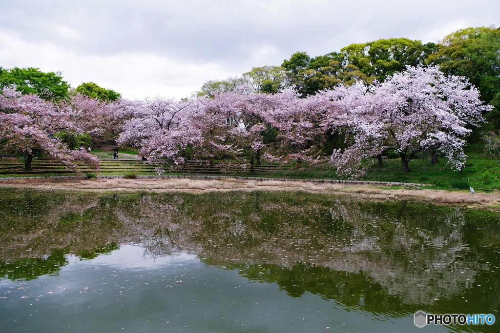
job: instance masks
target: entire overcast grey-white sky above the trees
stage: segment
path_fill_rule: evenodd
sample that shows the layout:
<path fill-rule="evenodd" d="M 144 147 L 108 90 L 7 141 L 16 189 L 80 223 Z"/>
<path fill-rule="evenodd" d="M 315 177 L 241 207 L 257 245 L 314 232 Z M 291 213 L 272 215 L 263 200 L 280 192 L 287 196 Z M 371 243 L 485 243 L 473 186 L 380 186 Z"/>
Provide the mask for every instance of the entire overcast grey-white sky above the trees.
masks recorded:
<path fill-rule="evenodd" d="M 127 98 L 185 97 L 296 51 L 491 24 L 500 0 L 0 0 L 0 66 L 59 70 Z"/>

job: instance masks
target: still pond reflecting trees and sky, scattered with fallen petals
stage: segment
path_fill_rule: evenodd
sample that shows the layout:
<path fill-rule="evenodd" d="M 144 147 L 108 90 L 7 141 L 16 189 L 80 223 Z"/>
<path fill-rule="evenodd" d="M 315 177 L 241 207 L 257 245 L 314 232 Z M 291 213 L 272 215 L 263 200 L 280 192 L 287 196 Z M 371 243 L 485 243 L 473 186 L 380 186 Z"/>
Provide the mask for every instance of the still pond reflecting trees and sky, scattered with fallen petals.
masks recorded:
<path fill-rule="evenodd" d="M 498 213 L 405 201 L 3 188 L 0 327 L 500 332 L 499 236 Z"/>

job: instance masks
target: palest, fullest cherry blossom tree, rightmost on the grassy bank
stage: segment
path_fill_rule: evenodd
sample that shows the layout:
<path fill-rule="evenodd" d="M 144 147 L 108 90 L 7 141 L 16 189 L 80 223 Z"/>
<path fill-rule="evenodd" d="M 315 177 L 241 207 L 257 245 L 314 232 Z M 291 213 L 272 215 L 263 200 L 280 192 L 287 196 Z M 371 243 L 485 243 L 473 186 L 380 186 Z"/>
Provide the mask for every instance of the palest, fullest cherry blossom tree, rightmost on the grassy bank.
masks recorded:
<path fill-rule="evenodd" d="M 464 77 L 445 76 L 438 67 L 410 67 L 388 77 L 371 90 L 360 86 L 335 89 L 330 93 L 337 104 L 327 124 L 352 137 L 351 145 L 336 150 L 332 161 L 339 174 L 359 176 L 364 158 L 394 149 L 402 171 L 418 153 L 435 149 L 448 164 L 461 169 L 466 155 L 462 139 L 484 121 L 481 113 L 490 110 L 479 100 L 478 90 Z"/>

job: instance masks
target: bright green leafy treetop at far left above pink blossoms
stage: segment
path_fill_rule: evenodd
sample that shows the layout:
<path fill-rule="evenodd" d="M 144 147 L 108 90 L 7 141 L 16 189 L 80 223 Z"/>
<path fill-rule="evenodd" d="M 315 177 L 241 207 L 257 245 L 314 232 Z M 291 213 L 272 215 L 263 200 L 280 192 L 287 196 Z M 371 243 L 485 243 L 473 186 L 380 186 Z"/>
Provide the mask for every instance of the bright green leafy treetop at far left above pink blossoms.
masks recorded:
<path fill-rule="evenodd" d="M 0 67 L 0 89 L 11 85 L 24 94 L 37 94 L 46 100 L 57 101 L 68 97 L 69 84 L 62 80 L 61 72 L 42 72 L 33 67 Z"/>

